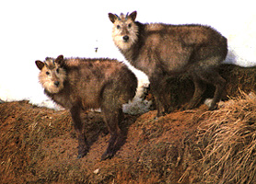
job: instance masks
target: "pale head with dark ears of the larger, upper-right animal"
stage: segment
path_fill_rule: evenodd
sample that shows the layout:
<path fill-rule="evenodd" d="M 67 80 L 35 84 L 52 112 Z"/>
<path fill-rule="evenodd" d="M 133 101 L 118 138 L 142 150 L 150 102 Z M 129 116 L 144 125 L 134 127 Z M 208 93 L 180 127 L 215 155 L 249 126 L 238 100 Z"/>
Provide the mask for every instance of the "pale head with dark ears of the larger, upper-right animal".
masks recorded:
<path fill-rule="evenodd" d="M 138 39 L 138 27 L 134 22 L 136 16 L 136 11 L 126 16 L 109 13 L 110 20 L 113 23 L 112 39 L 121 50 L 129 49 Z"/>

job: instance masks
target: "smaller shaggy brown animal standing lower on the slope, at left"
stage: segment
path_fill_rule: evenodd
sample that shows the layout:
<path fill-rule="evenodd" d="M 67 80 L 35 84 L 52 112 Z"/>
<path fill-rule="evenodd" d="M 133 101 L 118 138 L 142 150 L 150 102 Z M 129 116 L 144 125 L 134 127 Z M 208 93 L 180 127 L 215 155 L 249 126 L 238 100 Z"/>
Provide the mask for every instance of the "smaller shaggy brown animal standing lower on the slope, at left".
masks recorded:
<path fill-rule="evenodd" d="M 57 59 L 36 61 L 44 92 L 54 102 L 69 109 L 78 134 L 78 157 L 87 155 L 89 145 L 81 121 L 82 109 L 100 108 L 111 139 L 101 159 L 111 158 L 122 144 L 122 104 L 134 98 L 137 79 L 124 63 L 110 59 Z"/>

